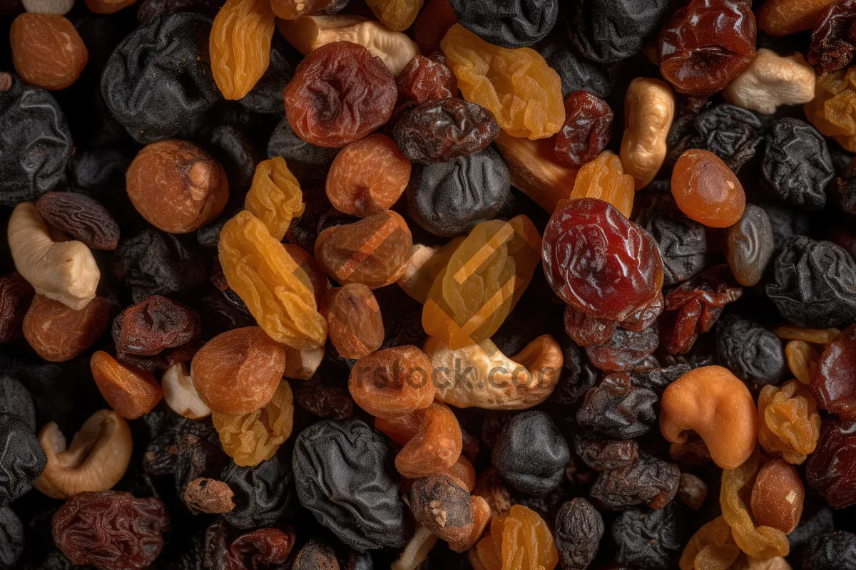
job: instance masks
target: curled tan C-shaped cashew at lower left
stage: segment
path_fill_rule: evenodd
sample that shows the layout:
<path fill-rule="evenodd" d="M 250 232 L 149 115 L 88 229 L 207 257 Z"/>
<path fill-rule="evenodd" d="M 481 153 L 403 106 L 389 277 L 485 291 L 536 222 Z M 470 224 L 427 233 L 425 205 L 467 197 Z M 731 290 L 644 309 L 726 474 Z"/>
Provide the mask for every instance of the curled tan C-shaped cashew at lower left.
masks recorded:
<path fill-rule="evenodd" d="M 66 449 L 65 436 L 50 422 L 39 432 L 48 458 L 35 487 L 48 497 L 68 499 L 86 491 L 109 491 L 131 461 L 131 429 L 109 409 L 92 414 Z"/>

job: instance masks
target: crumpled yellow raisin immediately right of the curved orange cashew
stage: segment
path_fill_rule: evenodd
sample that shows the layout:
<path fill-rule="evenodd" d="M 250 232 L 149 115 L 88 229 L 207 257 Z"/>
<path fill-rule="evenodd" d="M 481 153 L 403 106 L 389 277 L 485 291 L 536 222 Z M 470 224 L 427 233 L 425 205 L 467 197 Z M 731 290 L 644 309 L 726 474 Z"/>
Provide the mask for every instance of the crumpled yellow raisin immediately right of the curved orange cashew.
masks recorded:
<path fill-rule="evenodd" d="M 767 453 L 800 465 L 817 446 L 820 415 L 808 386 L 788 380 L 758 396 L 758 441 Z"/>

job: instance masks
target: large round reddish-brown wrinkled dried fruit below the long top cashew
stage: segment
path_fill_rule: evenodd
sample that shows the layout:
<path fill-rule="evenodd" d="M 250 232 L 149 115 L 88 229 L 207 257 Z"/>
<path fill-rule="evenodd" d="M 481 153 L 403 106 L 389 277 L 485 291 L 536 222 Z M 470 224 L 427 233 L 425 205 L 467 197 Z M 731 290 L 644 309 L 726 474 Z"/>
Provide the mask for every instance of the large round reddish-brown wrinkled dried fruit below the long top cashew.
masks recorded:
<path fill-rule="evenodd" d="M 283 93 L 285 115 L 306 142 L 342 148 L 389 120 L 397 91 L 379 57 L 359 44 L 333 42 L 297 66 Z"/>

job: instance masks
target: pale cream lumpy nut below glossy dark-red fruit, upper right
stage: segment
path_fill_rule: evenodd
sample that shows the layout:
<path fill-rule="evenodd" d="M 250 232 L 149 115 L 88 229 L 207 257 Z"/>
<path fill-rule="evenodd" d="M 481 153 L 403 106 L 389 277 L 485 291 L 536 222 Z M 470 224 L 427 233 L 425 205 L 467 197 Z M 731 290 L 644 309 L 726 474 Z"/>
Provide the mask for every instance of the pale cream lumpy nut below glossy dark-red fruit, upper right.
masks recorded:
<path fill-rule="evenodd" d="M 762 48 L 722 95 L 728 103 L 772 115 L 780 105 L 801 105 L 814 99 L 814 79 L 814 68 L 799 53 L 780 57 Z"/>

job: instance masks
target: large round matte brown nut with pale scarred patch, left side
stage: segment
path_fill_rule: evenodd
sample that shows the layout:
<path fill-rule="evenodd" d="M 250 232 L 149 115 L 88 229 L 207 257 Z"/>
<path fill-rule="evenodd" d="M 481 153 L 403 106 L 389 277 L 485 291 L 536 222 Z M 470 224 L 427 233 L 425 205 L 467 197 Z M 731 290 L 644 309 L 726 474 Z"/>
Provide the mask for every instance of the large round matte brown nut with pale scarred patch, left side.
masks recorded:
<path fill-rule="evenodd" d="M 146 221 L 164 232 L 195 232 L 229 200 L 226 171 L 213 156 L 184 140 L 143 147 L 125 176 L 128 198 Z"/>

